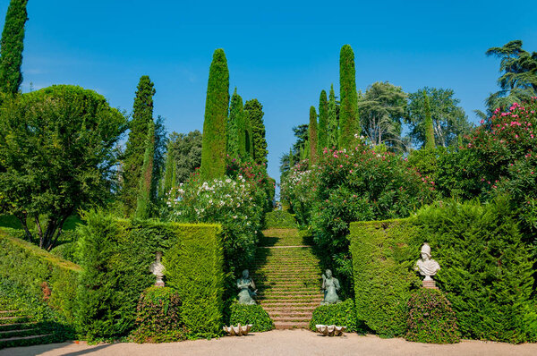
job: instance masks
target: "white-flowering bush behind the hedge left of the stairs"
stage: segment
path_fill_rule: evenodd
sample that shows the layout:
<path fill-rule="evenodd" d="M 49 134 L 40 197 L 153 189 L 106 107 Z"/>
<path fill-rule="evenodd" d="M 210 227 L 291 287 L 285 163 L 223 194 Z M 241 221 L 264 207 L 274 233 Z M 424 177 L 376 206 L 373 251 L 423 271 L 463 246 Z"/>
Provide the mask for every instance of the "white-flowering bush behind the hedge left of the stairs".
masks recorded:
<path fill-rule="evenodd" d="M 199 182 L 192 178 L 169 191 L 170 220 L 218 223 L 224 230 L 224 251 L 230 270 L 251 264 L 261 229 L 266 194 L 243 176 Z"/>

